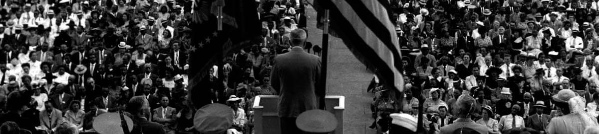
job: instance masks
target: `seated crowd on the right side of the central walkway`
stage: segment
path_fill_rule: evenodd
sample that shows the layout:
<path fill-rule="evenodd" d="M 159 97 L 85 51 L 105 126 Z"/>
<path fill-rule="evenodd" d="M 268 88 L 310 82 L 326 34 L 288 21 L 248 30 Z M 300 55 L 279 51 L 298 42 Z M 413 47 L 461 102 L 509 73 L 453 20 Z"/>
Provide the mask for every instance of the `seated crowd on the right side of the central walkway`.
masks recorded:
<path fill-rule="evenodd" d="M 386 132 L 389 115 L 403 111 L 419 132 L 450 133 L 443 128 L 456 127 L 463 112 L 456 100 L 465 95 L 476 100 L 468 117 L 489 133 L 597 133 L 598 1 L 391 0 L 391 7 L 406 97 L 397 107 L 373 80 L 371 128 Z"/>

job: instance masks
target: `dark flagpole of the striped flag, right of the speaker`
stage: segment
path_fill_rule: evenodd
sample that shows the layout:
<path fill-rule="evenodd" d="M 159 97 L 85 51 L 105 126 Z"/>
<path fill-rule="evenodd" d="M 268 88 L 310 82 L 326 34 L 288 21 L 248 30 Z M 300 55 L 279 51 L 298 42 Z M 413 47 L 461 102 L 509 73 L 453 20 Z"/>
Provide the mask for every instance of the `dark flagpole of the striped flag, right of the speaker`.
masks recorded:
<path fill-rule="evenodd" d="M 321 89 L 323 89 L 325 92 L 325 94 L 323 94 L 322 96 L 320 96 L 320 109 L 325 110 L 325 96 L 326 96 L 326 63 L 328 61 L 328 51 L 329 51 L 329 10 L 325 10 L 325 19 L 324 21 L 324 26 L 322 27 L 322 57 L 320 57 L 321 61 L 322 61 L 322 68 L 320 69 L 320 71 L 322 71 L 320 74 L 320 79 L 322 80 L 322 84 L 319 86 Z"/>

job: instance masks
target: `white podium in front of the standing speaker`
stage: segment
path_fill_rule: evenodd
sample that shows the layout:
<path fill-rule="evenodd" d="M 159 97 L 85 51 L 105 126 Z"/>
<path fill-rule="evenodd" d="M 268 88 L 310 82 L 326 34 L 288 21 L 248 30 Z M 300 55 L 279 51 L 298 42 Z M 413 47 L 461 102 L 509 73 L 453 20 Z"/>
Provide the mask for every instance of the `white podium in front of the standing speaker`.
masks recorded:
<path fill-rule="evenodd" d="M 254 108 L 254 130 L 256 134 L 280 134 L 279 121 L 279 96 L 259 95 L 256 96 Z M 344 96 L 325 96 L 326 111 L 335 115 L 338 121 L 337 128 L 332 134 L 343 134 L 343 110 L 345 110 Z"/>

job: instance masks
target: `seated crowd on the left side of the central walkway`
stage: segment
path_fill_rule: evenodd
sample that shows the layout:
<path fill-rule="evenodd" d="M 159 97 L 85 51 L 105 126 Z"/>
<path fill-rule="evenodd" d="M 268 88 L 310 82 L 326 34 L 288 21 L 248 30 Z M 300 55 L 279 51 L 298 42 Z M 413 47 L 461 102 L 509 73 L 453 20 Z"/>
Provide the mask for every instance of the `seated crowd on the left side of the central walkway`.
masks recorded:
<path fill-rule="evenodd" d="M 190 29 L 199 2 L 1 1 L 0 133 L 93 133 L 96 117 L 123 112 L 138 132 L 198 133 L 187 63 L 197 47 L 192 32 L 201 32 Z M 271 64 L 291 51 L 289 33 L 303 13 L 299 1 L 255 6 L 263 40 L 227 55 L 205 88 L 234 111 L 234 133 L 253 133 L 255 95 L 278 95 Z"/>

